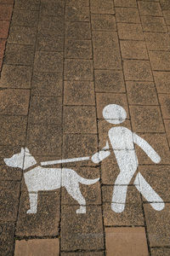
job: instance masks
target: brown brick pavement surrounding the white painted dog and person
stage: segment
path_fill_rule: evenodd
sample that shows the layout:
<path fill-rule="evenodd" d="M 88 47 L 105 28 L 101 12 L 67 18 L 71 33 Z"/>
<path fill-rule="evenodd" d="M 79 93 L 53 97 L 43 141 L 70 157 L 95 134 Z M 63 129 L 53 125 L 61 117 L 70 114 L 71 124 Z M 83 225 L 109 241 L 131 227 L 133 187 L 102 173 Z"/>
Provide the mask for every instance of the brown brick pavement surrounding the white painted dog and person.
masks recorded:
<path fill-rule="evenodd" d="M 169 33 L 169 0 L 0 0 L 2 256 L 170 254 Z M 166 207 L 156 212 L 132 181 L 124 212 L 113 212 L 112 154 L 62 164 L 100 177 L 80 187 L 86 214 L 65 188 L 39 192 L 37 213 L 26 214 L 23 172 L 3 159 L 21 147 L 37 162 L 92 156 L 113 126 L 102 115 L 108 104 L 125 108 L 123 125 L 161 156 L 156 165 L 136 147 L 139 172 Z"/>

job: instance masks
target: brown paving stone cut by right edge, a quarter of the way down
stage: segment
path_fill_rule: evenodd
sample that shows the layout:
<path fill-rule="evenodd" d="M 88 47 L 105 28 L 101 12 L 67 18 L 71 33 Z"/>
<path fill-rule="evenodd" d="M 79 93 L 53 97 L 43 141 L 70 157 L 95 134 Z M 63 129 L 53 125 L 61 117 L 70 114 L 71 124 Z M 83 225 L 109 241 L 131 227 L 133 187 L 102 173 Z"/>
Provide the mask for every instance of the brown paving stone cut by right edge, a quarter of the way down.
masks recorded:
<path fill-rule="evenodd" d="M 170 70 L 170 51 L 150 51 L 150 63 L 153 70 Z"/>

